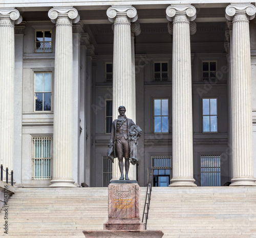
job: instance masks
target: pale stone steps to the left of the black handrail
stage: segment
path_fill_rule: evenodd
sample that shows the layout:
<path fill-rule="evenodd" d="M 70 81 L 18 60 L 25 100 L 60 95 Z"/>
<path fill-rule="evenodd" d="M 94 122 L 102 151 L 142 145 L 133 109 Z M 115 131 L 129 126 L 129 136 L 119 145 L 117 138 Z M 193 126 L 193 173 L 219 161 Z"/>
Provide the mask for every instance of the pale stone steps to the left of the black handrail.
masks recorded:
<path fill-rule="evenodd" d="M 141 188 L 141 207 L 145 192 Z M 108 220 L 108 188 L 17 188 L 8 206 L 10 237 L 84 238 L 83 230 L 102 230 Z"/>

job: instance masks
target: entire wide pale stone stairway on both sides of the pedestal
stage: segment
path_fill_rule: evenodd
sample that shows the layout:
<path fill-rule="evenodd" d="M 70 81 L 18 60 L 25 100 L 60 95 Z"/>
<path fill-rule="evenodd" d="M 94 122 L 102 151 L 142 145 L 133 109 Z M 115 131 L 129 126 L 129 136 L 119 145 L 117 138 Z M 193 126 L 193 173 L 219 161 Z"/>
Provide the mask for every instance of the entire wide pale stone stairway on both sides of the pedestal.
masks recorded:
<path fill-rule="evenodd" d="M 82 238 L 108 220 L 108 188 L 17 188 L 8 206 L 10 237 Z M 4 223 L 2 210 L 0 237 Z M 147 229 L 163 237 L 256 237 L 256 187 L 154 187 Z"/>

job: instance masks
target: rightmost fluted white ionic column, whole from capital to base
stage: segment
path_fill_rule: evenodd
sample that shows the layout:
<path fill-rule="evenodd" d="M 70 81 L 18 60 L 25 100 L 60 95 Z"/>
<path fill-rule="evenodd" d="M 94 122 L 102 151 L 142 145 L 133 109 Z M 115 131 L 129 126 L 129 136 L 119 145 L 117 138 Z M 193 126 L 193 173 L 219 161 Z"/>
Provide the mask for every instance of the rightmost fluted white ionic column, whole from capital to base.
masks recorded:
<path fill-rule="evenodd" d="M 232 170 L 230 186 L 255 186 L 252 158 L 251 61 L 249 20 L 251 4 L 231 4 L 226 18 L 232 20 Z"/>

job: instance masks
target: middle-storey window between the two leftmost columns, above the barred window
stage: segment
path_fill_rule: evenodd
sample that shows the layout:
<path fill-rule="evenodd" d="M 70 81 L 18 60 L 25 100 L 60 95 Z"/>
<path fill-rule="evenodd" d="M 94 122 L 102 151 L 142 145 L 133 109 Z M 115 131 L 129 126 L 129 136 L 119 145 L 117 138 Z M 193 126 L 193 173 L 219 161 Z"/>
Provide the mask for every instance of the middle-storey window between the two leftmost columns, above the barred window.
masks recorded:
<path fill-rule="evenodd" d="M 35 112 L 51 111 L 52 73 L 35 73 Z"/>

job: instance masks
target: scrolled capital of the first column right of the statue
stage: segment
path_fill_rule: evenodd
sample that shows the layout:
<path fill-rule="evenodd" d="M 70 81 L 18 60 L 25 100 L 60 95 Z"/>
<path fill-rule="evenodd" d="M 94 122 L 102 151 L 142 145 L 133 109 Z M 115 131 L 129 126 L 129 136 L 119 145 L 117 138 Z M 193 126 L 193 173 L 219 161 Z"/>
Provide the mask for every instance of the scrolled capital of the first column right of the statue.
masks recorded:
<path fill-rule="evenodd" d="M 183 4 L 175 4 L 175 5 L 170 5 L 166 9 L 166 18 L 169 21 L 174 20 L 174 16 L 177 14 L 182 14 L 188 17 L 188 20 L 195 20 L 197 15 L 197 10 L 194 6 L 192 5 L 183 5 Z"/>

